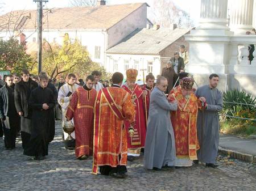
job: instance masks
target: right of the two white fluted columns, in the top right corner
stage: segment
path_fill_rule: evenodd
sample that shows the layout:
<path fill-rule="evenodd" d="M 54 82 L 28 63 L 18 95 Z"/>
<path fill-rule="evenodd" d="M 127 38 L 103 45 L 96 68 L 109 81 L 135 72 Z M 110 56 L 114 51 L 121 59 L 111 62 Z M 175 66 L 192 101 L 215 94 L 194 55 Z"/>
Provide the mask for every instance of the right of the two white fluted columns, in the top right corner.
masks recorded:
<path fill-rule="evenodd" d="M 232 0 L 230 3 L 230 29 L 245 35 L 253 29 L 253 0 Z"/>

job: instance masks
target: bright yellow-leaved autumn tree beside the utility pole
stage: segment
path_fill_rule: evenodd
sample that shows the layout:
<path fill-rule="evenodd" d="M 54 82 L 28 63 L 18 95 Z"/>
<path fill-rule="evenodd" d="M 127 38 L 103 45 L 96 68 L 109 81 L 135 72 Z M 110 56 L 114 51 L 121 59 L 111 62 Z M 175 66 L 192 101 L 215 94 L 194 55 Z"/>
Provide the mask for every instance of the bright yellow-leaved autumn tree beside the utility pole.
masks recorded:
<path fill-rule="evenodd" d="M 30 64 L 34 74 L 38 70 L 35 56 L 32 56 L 34 59 Z M 108 75 L 104 67 L 90 60 L 86 48 L 78 40 L 72 42 L 67 33 L 64 36 L 63 45 L 43 41 L 42 70 L 46 71 L 51 79 L 68 73 L 75 73 L 77 78 L 84 79 L 93 70 L 100 70 L 103 75 Z"/>

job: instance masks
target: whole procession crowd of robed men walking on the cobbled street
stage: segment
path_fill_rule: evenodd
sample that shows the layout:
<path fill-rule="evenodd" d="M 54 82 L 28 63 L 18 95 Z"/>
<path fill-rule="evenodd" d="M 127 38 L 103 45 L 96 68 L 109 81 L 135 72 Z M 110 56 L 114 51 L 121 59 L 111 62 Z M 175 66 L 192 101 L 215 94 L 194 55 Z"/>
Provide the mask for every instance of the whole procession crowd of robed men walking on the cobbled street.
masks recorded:
<path fill-rule="evenodd" d="M 179 58 L 170 61 L 179 81 L 175 84 L 162 73 L 156 83 L 148 74 L 146 84 L 140 86 L 135 69 L 126 71 L 124 83 L 123 74 L 114 73 L 110 87 L 100 82 L 99 71 L 85 82 L 68 74 L 57 88 L 44 72 L 38 81 L 30 78 L 28 70 L 22 70 L 19 82 L 14 80 L 18 75 L 6 75 L 0 89 L 6 149 L 15 148 L 20 131 L 24 155 L 43 160 L 55 135 L 56 110 L 61 109 L 62 126 L 75 127 L 71 137 L 63 131 L 65 147 L 75 149 L 79 160 L 93 156 L 94 174 L 99 170 L 102 175 L 125 178 L 127 160 L 133 162 L 142 153 L 147 169 L 199 162 L 217 167 L 218 112 L 223 104 L 218 75 L 211 74 L 209 83 L 195 90 L 195 81 L 179 66 L 184 62 Z"/>

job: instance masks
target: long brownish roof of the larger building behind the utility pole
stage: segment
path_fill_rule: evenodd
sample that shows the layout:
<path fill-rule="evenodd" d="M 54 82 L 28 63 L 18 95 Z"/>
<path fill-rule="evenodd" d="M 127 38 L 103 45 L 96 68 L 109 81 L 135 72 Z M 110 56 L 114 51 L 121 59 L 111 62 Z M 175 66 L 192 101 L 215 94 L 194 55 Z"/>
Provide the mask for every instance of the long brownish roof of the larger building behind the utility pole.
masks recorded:
<path fill-rule="evenodd" d="M 43 29 L 108 29 L 146 3 L 43 10 Z M 147 5 L 148 6 L 148 5 Z M 10 20 L 10 22 L 9 22 Z M 0 29 L 35 29 L 36 10 L 0 16 Z"/>

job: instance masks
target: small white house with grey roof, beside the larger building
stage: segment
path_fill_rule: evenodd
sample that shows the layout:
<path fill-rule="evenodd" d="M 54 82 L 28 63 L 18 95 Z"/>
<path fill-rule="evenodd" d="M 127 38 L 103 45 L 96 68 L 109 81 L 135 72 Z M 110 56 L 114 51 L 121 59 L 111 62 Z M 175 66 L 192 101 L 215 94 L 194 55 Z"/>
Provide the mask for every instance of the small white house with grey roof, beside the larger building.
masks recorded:
<path fill-rule="evenodd" d="M 106 70 L 125 74 L 127 69 L 138 70 L 138 79 L 143 80 L 148 73 L 155 77 L 179 51 L 181 44 L 187 45 L 184 35 L 189 28 L 143 28 L 137 29 L 121 42 L 106 51 Z"/>

